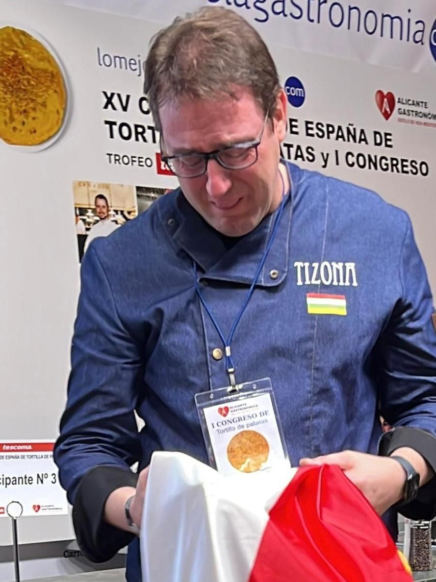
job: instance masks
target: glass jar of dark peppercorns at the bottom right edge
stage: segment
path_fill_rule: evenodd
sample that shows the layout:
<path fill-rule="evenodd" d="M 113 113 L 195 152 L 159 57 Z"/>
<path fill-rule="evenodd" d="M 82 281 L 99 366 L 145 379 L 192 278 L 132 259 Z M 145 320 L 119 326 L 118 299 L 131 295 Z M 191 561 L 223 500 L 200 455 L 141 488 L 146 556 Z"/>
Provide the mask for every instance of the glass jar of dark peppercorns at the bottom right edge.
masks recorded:
<path fill-rule="evenodd" d="M 404 520 L 403 553 L 414 572 L 433 569 L 431 552 L 431 521 Z"/>

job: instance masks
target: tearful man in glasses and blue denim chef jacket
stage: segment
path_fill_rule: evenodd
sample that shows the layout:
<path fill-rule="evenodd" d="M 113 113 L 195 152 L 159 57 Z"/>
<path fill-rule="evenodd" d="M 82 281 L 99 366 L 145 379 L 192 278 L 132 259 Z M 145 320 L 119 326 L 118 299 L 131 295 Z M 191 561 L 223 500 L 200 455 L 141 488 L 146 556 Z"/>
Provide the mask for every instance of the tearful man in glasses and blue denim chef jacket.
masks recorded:
<path fill-rule="evenodd" d="M 230 10 L 161 31 L 145 92 L 180 189 L 83 262 L 55 450 L 83 551 L 102 561 L 132 542 L 153 451 L 207 462 L 194 395 L 232 375 L 271 379 L 292 464 L 338 464 L 380 514 L 403 503 L 433 516 L 436 334 L 406 214 L 280 160 L 284 91 L 258 33 Z M 312 294 L 344 296 L 345 317 L 313 313 Z M 395 427 L 381 440 L 380 416 Z M 129 581 L 138 553 L 134 540 Z"/>

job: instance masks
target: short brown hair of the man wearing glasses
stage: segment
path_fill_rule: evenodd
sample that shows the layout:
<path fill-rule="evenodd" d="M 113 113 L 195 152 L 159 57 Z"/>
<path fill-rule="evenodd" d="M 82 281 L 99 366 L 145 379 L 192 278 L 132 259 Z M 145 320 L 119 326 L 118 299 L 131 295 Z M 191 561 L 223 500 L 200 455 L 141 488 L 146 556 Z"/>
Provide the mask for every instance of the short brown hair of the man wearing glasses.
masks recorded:
<path fill-rule="evenodd" d="M 178 16 L 155 34 L 144 75 L 144 93 L 159 131 L 159 107 L 179 98 L 235 98 L 238 87 L 244 87 L 263 115 L 272 118 L 280 91 L 276 65 L 259 33 L 242 16 L 219 6 Z"/>

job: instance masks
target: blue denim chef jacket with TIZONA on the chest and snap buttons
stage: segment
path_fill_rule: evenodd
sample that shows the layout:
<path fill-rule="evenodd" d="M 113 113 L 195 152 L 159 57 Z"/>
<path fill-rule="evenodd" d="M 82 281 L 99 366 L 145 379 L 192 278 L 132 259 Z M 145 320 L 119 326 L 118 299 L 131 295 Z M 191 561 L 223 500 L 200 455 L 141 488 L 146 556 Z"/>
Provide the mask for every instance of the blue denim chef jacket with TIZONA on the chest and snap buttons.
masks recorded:
<path fill-rule="evenodd" d="M 343 449 L 376 453 L 380 411 L 436 435 L 433 301 L 408 216 L 358 186 L 288 170 L 291 195 L 232 343 L 237 381 L 271 378 L 292 464 Z M 196 296 L 192 260 L 227 336 L 275 215 L 226 250 L 175 190 L 92 243 L 56 447 L 71 501 L 98 464 L 127 467 L 140 456 L 143 467 L 154 450 L 207 462 L 194 395 L 228 377 L 212 357 L 223 345 Z M 342 281 L 333 263 L 344 264 Z M 346 316 L 309 314 L 307 293 L 344 295 Z M 134 410 L 146 423 L 139 441 Z M 128 579 L 140 580 L 131 558 Z"/>

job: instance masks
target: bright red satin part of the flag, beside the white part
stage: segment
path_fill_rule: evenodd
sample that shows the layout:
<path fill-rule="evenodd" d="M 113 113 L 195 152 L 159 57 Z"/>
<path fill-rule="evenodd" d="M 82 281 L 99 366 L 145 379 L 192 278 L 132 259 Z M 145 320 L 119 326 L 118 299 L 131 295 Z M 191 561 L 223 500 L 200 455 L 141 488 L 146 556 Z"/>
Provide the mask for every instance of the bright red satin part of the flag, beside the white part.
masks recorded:
<path fill-rule="evenodd" d="M 335 466 L 299 469 L 276 505 L 249 582 L 411 582 L 383 521 Z"/>

